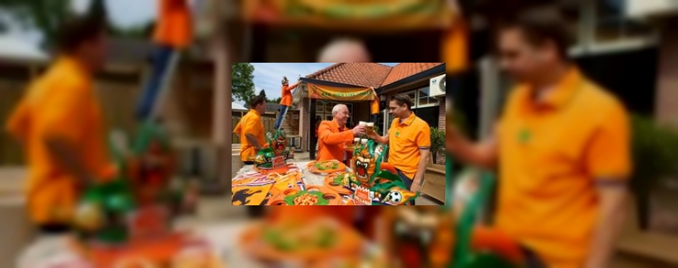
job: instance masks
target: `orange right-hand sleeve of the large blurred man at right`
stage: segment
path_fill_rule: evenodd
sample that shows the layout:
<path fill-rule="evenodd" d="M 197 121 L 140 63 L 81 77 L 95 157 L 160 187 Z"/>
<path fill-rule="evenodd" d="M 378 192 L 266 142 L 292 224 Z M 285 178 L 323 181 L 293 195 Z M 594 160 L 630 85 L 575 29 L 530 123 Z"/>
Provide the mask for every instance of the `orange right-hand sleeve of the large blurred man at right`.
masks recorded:
<path fill-rule="evenodd" d="M 630 176 L 630 124 L 622 107 L 603 116 L 585 155 L 587 170 L 597 180 L 624 180 Z"/>

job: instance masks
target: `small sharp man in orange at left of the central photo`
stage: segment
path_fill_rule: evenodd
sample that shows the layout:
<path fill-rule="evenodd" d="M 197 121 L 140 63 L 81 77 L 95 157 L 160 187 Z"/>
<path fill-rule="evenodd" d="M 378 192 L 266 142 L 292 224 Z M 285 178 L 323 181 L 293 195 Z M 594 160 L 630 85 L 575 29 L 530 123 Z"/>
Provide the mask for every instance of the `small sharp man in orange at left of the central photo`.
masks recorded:
<path fill-rule="evenodd" d="M 234 133 L 240 136 L 240 159 L 245 165 L 254 165 L 252 158 L 266 146 L 262 114 L 266 112 L 266 97 L 255 96 L 250 100 L 250 111 L 240 119 Z"/>

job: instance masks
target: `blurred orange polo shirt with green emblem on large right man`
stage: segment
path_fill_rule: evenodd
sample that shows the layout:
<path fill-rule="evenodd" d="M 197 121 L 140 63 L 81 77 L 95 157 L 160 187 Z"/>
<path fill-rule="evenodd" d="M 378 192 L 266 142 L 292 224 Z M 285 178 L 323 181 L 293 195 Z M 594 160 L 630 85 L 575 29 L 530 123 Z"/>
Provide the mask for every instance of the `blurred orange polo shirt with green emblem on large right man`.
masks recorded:
<path fill-rule="evenodd" d="M 577 70 L 540 103 L 519 86 L 498 125 L 496 225 L 549 267 L 582 267 L 597 218 L 595 180 L 630 174 L 627 112 Z"/>

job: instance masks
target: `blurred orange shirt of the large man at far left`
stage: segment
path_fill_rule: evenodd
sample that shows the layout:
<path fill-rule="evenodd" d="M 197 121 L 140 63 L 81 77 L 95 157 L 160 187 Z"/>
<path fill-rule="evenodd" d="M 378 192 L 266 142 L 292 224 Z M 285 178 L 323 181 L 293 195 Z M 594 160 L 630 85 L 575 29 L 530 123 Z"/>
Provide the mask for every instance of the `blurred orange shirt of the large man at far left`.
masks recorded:
<path fill-rule="evenodd" d="M 88 172 L 102 180 L 111 177 L 113 162 L 92 76 L 70 58 L 58 59 L 29 86 L 6 128 L 25 145 L 27 207 L 38 224 L 70 222 L 79 196 L 77 178 L 53 160 L 47 137 L 70 140 Z"/>

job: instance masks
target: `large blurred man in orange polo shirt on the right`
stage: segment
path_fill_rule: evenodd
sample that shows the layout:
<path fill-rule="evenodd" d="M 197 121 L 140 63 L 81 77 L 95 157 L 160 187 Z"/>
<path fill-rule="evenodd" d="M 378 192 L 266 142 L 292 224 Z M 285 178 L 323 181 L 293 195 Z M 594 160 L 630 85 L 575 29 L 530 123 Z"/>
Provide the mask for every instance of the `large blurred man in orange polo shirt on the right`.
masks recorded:
<path fill-rule="evenodd" d="M 447 149 L 498 167 L 496 227 L 532 262 L 609 267 L 630 175 L 627 112 L 567 57 L 559 14 L 528 11 L 500 28 L 502 66 L 520 84 L 495 133 L 474 144 L 449 125 Z"/>

